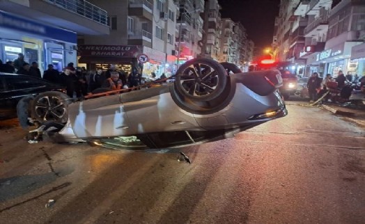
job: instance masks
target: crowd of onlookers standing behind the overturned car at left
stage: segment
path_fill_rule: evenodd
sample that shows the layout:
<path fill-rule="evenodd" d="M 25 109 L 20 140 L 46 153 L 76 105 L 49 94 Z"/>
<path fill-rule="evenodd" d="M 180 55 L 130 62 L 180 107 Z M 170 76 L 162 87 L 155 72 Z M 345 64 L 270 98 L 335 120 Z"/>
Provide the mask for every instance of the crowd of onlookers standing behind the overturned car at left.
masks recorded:
<path fill-rule="evenodd" d="M 3 63 L 0 61 L 0 72 L 16 73 L 29 75 L 45 79 L 51 83 L 58 83 L 66 88 L 69 97 L 81 97 L 93 93 L 102 93 L 109 90 L 121 90 L 123 88 L 132 88 L 140 86 L 142 83 L 142 75 L 136 67 L 132 68 L 132 72 L 127 74 L 123 70 L 116 70 L 111 66 L 108 70 L 87 71 L 85 67 L 74 67 L 73 63 L 62 72 L 54 69 L 54 65 L 47 65 L 47 70 L 41 75 L 38 63 L 33 62 L 31 65 L 24 61 L 24 55 L 18 54 L 15 61 Z"/>

